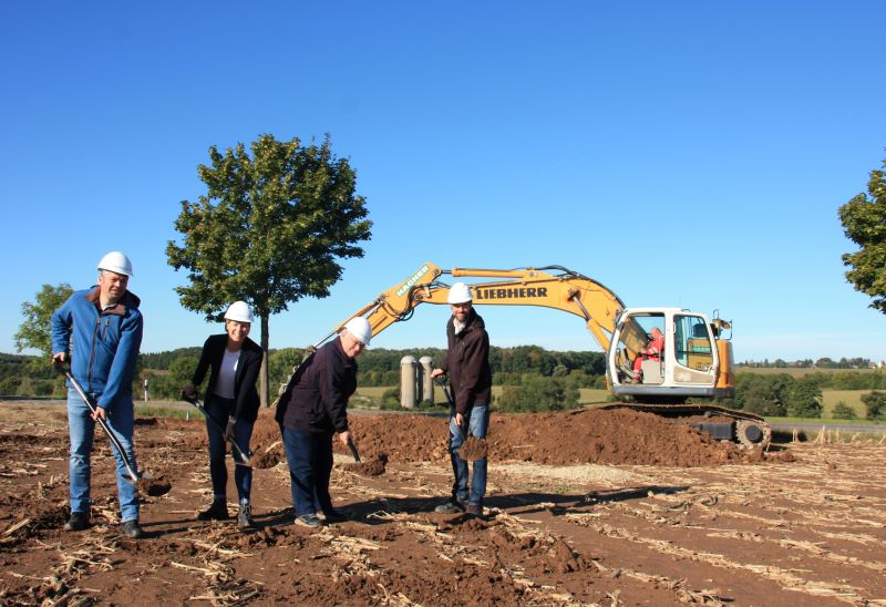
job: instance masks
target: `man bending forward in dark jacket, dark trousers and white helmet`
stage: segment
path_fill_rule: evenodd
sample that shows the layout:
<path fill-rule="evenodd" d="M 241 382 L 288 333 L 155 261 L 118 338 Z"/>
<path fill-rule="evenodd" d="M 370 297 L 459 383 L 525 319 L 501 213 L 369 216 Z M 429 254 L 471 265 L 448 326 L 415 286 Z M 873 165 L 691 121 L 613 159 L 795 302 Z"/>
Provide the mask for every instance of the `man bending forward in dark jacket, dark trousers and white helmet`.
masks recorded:
<path fill-rule="evenodd" d="M 319 527 L 318 510 L 327 523 L 346 519 L 332 507 L 329 477 L 332 473 L 332 435 L 342 444 L 348 431 L 348 399 L 357 390 L 357 361 L 369 346 L 372 329 L 362 317 L 347 322 L 339 337 L 301 363 L 280 398 L 281 421 L 289 464 L 296 524 Z"/>

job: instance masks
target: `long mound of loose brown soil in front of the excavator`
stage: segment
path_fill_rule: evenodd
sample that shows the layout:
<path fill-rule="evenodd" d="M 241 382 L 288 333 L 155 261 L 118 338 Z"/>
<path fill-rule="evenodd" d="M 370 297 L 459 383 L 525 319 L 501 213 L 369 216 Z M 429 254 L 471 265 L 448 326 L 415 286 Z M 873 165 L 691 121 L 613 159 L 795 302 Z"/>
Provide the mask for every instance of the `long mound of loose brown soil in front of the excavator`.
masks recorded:
<path fill-rule="evenodd" d="M 449 460 L 449 420 L 444 416 L 361 412 L 350 414 L 349 424 L 367 461 L 381 454 L 391 462 Z M 272 447 L 281 453 L 279 441 L 271 411 L 262 411 L 253 434 L 253 452 L 259 455 Z M 693 428 L 629 410 L 493 413 L 486 446 L 493 461 L 560 465 L 710 466 L 744 461 L 746 455 L 736 445 L 715 442 Z M 338 441 L 333 449 L 349 455 Z"/>

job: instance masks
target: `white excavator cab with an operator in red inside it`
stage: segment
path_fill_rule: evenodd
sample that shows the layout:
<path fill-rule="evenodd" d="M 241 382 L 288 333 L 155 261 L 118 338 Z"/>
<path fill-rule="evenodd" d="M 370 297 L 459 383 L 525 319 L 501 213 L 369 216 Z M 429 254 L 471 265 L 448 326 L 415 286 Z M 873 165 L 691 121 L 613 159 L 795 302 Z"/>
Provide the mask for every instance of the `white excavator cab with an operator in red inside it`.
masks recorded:
<path fill-rule="evenodd" d="M 734 379 L 731 387 L 719 381 L 720 343 L 714 326 L 702 313 L 680 308 L 625 309 L 616 320 L 608 351 L 612 392 L 642 402 L 730 395 Z M 731 344 L 723 346 L 731 372 Z"/>

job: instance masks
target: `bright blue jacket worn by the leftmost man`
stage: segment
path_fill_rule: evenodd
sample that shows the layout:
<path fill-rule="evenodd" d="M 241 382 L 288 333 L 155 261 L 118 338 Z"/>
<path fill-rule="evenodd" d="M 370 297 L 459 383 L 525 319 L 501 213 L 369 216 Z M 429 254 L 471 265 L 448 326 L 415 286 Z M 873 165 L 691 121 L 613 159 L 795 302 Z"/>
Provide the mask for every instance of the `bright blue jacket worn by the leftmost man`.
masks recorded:
<path fill-rule="evenodd" d="M 102 310 L 99 287 L 93 287 L 75 291 L 52 315 L 52 353 L 68 354 L 71 374 L 86 392 L 100 394 L 102 409 L 112 410 L 121 397 L 132 394 L 142 346 L 140 304 L 126 291 L 116 306 Z"/>

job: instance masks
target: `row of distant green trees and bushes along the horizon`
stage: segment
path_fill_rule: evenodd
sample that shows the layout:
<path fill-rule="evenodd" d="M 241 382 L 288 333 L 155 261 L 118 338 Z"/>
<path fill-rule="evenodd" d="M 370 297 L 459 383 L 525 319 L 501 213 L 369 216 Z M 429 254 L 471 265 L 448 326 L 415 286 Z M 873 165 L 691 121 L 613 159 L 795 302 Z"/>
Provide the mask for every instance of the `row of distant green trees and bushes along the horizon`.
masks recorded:
<path fill-rule="evenodd" d="M 271 384 L 287 381 L 301 361 L 303 350 L 272 350 L 269 357 Z M 400 361 L 404 356 L 416 359 L 431 356 L 436 362 L 442 350 L 367 350 L 360 357 L 359 384 L 362 387 L 395 387 L 400 383 Z M 145 353 L 140 357 L 134 393 L 143 395 L 144 380 L 152 399 L 176 400 L 182 387 L 194 374 L 199 348 L 183 348 L 168 352 Z M 557 352 L 537 346 L 491 349 L 493 381 L 503 390 L 495 407 L 504 411 L 556 411 L 578 405 L 581 388 L 606 388 L 605 358 L 599 352 Z M 879 419 L 886 413 L 879 394 L 886 394 L 886 372 L 830 371 L 810 372 L 802 377 L 790 373 L 738 374 L 736 395 L 723 401 L 725 407 L 761 415 L 818 418 L 823 411 L 823 390 L 869 390 L 864 399 L 866 416 Z M 25 393 L 61 397 L 61 381 L 53 375 L 43 358 L 0 354 L 0 393 Z M 270 400 L 276 397 L 272 391 Z M 389 404 L 399 402 L 395 389 L 385 394 Z M 382 399 L 383 403 L 385 398 Z M 835 416 L 852 418 L 855 411 L 837 407 Z"/>

